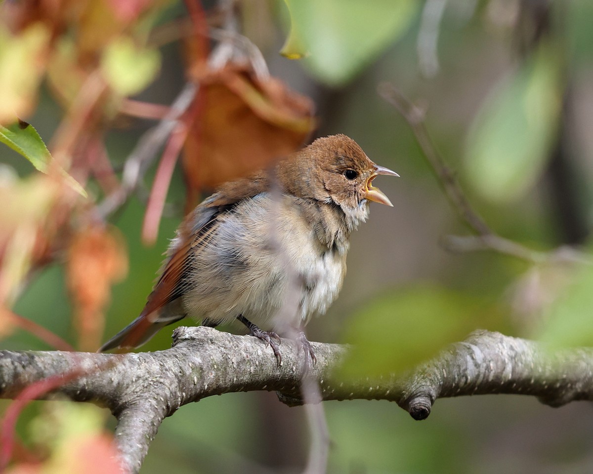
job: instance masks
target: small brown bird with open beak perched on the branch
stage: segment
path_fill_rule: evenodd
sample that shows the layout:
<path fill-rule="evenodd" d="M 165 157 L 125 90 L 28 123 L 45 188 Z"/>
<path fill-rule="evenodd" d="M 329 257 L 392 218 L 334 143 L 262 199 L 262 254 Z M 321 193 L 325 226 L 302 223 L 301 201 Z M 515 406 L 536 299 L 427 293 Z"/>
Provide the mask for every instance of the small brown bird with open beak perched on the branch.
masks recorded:
<path fill-rule="evenodd" d="M 138 347 L 190 316 L 212 327 L 241 322 L 279 366 L 279 334 L 288 334 L 315 364 L 304 327 L 342 287 L 350 233 L 370 201 L 393 207 L 372 185 L 378 175 L 398 176 L 336 134 L 221 185 L 181 223 L 138 318 L 99 351 Z"/>

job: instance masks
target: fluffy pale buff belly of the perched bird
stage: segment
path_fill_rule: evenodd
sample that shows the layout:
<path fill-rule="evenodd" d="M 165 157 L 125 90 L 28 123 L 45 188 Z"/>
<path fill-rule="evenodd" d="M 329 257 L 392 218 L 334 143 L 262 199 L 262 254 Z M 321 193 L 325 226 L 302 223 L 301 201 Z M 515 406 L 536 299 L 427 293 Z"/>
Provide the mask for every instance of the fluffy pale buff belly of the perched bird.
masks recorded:
<path fill-rule="evenodd" d="M 189 316 L 221 324 L 241 314 L 269 330 L 326 312 L 342 287 L 347 242 L 327 248 L 286 204 L 262 197 L 221 219 L 192 260 Z"/>

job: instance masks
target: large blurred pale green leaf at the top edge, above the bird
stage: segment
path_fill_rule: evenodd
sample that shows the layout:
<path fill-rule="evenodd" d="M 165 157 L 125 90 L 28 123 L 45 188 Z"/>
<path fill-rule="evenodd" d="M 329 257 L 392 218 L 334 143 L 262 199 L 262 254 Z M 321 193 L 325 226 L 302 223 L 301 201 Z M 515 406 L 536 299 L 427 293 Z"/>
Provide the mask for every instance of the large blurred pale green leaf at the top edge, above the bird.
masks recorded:
<path fill-rule="evenodd" d="M 291 30 L 282 48 L 326 84 L 341 85 L 376 59 L 409 28 L 417 0 L 285 0 Z"/>

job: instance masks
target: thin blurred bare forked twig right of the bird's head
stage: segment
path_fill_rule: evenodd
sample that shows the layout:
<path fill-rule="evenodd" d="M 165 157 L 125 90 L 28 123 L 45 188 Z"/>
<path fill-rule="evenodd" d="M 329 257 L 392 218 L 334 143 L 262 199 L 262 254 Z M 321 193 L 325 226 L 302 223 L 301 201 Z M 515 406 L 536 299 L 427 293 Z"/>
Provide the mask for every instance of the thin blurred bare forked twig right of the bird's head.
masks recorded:
<path fill-rule="evenodd" d="M 493 250 L 501 254 L 511 255 L 532 263 L 543 262 L 580 262 L 591 264 L 589 255 L 576 249 L 560 247 L 550 252 L 541 252 L 521 245 L 518 242 L 503 238 L 493 232 L 482 217 L 473 209 L 454 172 L 445 164 L 444 159 L 436 151 L 426 129 L 425 110 L 410 102 L 393 85 L 387 82 L 380 84 L 378 92 L 388 103 L 393 105 L 412 128 L 423 155 L 431 166 L 436 179 L 447 196 L 452 207 L 477 236 L 448 236 L 445 246 L 452 251 L 467 252 L 476 250 Z"/>

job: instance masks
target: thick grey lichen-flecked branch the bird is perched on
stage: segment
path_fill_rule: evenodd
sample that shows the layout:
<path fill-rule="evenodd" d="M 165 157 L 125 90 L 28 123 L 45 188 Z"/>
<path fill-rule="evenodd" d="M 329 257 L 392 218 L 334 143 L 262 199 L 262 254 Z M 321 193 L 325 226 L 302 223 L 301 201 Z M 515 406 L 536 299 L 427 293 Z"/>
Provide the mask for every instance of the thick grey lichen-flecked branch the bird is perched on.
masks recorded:
<path fill-rule="evenodd" d="M 63 380 L 52 393 L 110 408 L 118 419 L 119 450 L 134 473 L 162 420 L 186 403 L 248 390 L 274 390 L 288 405 L 302 401 L 302 357 L 288 340 L 278 367 L 269 348 L 253 337 L 199 326 L 177 328 L 173 339 L 171 349 L 154 353 L 0 351 L 0 397 L 16 398 L 39 380 L 81 370 L 82 376 Z M 390 400 L 415 419 L 428 417 L 436 399 L 452 396 L 514 393 L 550 406 L 593 401 L 592 348 L 550 351 L 537 342 L 477 331 L 409 373 L 355 377 L 337 371 L 347 346 L 313 347 L 317 364 L 310 374 L 321 399 Z"/>

